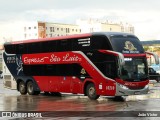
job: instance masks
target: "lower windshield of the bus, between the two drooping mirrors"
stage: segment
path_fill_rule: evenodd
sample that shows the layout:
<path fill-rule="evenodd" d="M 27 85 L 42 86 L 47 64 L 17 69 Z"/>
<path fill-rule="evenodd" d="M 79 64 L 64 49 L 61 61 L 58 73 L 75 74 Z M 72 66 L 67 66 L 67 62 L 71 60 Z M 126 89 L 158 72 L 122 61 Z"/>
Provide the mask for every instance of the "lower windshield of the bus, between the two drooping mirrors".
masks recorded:
<path fill-rule="evenodd" d="M 143 81 L 147 79 L 148 70 L 145 58 L 125 58 L 121 78 L 125 81 Z"/>

